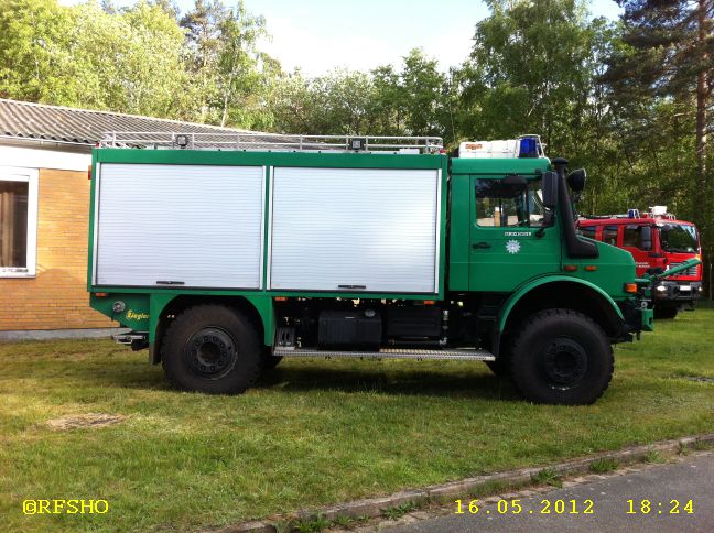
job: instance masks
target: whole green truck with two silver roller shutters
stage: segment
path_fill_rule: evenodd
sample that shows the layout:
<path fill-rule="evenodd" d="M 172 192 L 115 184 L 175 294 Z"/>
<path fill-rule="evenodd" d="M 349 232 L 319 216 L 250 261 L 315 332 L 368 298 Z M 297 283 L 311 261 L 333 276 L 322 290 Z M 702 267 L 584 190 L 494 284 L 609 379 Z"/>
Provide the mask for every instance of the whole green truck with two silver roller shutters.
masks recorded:
<path fill-rule="evenodd" d="M 94 151 L 91 306 L 178 389 L 285 357 L 485 361 L 588 404 L 652 330 L 629 252 L 577 235 L 585 172 L 536 137 L 112 133 Z"/>

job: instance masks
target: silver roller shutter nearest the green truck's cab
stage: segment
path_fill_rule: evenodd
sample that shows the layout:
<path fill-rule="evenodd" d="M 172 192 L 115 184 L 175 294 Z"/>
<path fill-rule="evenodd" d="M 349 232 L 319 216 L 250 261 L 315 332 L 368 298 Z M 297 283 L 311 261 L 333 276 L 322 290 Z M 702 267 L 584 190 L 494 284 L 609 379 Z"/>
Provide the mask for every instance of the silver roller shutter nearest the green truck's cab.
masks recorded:
<path fill-rule="evenodd" d="M 440 186 L 436 170 L 274 168 L 270 287 L 437 292 Z"/>

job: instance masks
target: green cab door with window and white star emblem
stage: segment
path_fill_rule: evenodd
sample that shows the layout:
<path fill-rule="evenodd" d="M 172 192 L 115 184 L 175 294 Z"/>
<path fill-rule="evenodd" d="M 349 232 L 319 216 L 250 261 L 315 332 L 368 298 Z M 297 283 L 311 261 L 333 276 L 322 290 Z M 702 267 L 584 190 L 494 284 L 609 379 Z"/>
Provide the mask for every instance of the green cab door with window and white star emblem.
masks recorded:
<path fill-rule="evenodd" d="M 540 178 L 520 177 L 470 176 L 470 291 L 511 292 L 561 270 L 560 226 L 540 202 Z"/>

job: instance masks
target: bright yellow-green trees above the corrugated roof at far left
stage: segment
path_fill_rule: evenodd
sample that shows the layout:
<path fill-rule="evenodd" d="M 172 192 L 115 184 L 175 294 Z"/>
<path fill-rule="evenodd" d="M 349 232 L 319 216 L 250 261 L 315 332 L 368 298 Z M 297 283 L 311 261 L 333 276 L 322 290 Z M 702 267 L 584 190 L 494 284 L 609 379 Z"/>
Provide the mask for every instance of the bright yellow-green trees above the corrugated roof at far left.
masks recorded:
<path fill-rule="evenodd" d="M 0 95 L 71 107 L 181 117 L 183 34 L 158 6 L 108 14 L 95 2 L 4 0 Z"/>

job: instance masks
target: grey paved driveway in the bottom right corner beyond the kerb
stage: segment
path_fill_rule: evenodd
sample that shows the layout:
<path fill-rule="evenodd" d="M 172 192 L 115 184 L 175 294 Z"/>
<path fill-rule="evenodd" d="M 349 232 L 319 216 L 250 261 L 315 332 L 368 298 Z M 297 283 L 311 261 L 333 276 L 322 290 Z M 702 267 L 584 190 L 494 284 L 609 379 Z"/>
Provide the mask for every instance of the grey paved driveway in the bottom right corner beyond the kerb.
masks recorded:
<path fill-rule="evenodd" d="M 464 501 L 463 514 L 454 513 L 454 503 L 447 515 L 387 531 L 712 532 L 714 452 L 695 453 L 674 464 L 635 467 L 626 474 L 587 476 L 552 491 L 522 491 L 513 499 L 489 500 L 475 503 L 475 514 Z"/>

